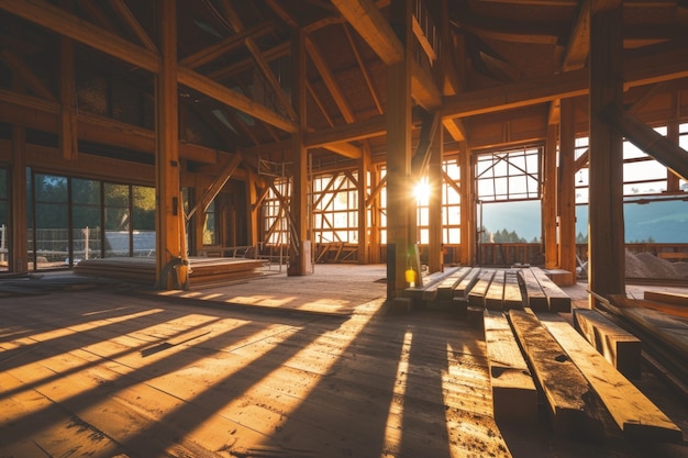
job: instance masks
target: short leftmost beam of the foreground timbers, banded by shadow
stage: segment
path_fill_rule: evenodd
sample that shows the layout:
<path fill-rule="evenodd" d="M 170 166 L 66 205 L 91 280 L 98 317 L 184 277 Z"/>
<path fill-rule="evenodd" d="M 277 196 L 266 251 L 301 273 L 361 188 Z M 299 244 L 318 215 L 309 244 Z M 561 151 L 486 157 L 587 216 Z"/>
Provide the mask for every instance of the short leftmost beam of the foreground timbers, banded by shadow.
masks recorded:
<path fill-rule="evenodd" d="M 495 420 L 534 423 L 537 390 L 509 321 L 503 313 L 489 310 L 484 320 Z"/>

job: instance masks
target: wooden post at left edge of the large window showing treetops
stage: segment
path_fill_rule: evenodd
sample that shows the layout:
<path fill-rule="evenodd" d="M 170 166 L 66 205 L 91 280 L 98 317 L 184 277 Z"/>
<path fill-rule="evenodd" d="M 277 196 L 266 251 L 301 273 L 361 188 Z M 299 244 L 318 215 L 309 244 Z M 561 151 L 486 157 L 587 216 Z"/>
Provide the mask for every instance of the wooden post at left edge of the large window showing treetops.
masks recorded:
<path fill-rule="evenodd" d="M 476 261 L 476 193 L 475 168 L 466 142 L 458 144 L 460 172 L 460 264 L 470 266 Z"/>

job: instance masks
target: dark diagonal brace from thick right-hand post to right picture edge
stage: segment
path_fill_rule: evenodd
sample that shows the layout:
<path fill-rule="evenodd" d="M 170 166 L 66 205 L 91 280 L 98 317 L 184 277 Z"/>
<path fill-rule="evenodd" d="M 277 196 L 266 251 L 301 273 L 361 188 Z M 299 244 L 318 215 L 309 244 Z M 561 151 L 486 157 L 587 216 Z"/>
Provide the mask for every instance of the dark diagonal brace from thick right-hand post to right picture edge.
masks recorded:
<path fill-rule="evenodd" d="M 629 142 L 654 157 L 684 180 L 688 180 L 688 152 L 684 148 L 655 132 L 654 129 L 624 111 L 619 104 L 607 107 L 602 118 Z"/>

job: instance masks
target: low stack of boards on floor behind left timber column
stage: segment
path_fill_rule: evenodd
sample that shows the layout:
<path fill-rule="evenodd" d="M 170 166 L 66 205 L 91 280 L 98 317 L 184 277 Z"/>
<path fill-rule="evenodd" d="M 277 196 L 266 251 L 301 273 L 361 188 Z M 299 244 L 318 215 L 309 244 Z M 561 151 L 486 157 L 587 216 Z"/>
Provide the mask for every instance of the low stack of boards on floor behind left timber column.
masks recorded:
<path fill-rule="evenodd" d="M 191 287 L 198 287 L 253 278 L 263 275 L 259 268 L 264 265 L 265 261 L 260 259 L 190 257 L 189 283 Z M 155 258 L 88 259 L 77 264 L 74 272 L 153 286 L 155 283 Z"/>

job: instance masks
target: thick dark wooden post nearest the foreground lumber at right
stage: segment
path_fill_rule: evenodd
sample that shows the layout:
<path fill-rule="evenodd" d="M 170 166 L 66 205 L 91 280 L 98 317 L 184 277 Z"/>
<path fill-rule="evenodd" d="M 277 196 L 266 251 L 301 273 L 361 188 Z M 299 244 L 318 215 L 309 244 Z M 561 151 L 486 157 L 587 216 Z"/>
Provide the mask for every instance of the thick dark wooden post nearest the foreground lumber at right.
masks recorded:
<path fill-rule="evenodd" d="M 590 290 L 601 297 L 625 294 L 623 138 L 601 114 L 623 103 L 621 22 L 621 0 L 592 2 L 588 275 Z M 596 305 L 593 295 L 590 305 Z"/>

